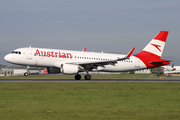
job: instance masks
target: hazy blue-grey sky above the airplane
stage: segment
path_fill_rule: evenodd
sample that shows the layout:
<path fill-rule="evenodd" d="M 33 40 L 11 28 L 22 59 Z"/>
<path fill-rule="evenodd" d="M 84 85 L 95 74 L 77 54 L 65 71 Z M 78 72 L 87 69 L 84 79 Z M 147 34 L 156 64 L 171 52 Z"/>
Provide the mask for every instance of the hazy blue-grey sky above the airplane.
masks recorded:
<path fill-rule="evenodd" d="M 0 52 L 31 45 L 135 54 L 161 30 L 169 31 L 162 58 L 180 60 L 179 0 L 0 0 Z"/>

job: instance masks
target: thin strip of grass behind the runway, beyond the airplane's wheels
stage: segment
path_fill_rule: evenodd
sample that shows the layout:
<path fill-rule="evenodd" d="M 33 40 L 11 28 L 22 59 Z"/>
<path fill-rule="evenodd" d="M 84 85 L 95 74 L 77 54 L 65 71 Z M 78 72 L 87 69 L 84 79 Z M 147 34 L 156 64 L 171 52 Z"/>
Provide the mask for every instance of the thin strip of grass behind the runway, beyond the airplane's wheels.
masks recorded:
<path fill-rule="evenodd" d="M 0 80 L 74 80 L 74 75 L 30 75 L 30 76 L 8 76 L 0 77 Z M 84 79 L 84 75 L 81 76 Z M 94 74 L 92 80 L 109 79 L 160 79 L 155 74 Z"/>

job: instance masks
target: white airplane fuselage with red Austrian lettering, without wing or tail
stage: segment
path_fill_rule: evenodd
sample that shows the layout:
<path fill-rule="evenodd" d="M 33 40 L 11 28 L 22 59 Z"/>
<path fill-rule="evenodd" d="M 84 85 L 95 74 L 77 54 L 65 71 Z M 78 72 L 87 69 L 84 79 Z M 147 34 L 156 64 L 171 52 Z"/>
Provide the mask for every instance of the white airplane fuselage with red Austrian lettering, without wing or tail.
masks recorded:
<path fill-rule="evenodd" d="M 98 62 L 123 58 L 123 54 L 108 54 L 97 52 L 70 51 L 46 48 L 19 48 L 6 55 L 4 59 L 10 63 L 37 67 L 61 67 L 69 62 Z M 115 64 L 98 66 L 96 70 L 121 72 L 145 69 L 146 65 L 137 57 L 131 56 L 127 60 L 117 61 Z"/>

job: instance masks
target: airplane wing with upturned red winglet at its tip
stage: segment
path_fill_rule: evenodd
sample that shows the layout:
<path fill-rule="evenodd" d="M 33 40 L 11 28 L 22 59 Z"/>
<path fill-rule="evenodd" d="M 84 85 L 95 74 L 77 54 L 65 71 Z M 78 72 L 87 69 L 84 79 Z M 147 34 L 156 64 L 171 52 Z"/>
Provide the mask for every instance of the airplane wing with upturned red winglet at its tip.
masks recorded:
<path fill-rule="evenodd" d="M 74 65 L 80 65 L 81 67 L 85 69 L 94 69 L 98 66 L 104 66 L 104 65 L 115 65 L 117 61 L 122 61 L 129 59 L 133 53 L 135 48 L 133 48 L 125 57 L 123 58 L 117 58 L 114 60 L 105 60 L 105 61 L 85 61 L 85 62 L 67 62 L 67 64 L 74 64 Z"/>

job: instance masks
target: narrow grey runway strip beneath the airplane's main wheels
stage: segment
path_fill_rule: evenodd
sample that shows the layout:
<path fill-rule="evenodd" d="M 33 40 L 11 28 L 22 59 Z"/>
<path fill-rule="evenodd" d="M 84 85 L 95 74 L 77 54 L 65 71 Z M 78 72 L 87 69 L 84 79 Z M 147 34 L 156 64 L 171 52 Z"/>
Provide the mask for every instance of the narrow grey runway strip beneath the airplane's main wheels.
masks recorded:
<path fill-rule="evenodd" d="M 171 79 L 157 79 L 157 80 L 0 80 L 1 83 L 113 83 L 113 82 L 151 82 L 151 83 L 160 83 L 160 82 L 180 82 L 180 80 L 171 80 Z"/>

